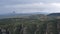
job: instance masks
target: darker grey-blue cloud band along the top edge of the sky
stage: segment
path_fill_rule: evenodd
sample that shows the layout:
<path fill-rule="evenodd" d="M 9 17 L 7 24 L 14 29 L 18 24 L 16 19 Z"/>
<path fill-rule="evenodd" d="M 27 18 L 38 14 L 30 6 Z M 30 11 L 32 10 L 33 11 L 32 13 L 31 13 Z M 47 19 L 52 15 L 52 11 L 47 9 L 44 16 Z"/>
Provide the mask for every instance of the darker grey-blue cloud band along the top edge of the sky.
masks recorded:
<path fill-rule="evenodd" d="M 0 5 L 30 4 L 30 3 L 60 3 L 60 0 L 0 0 Z"/>

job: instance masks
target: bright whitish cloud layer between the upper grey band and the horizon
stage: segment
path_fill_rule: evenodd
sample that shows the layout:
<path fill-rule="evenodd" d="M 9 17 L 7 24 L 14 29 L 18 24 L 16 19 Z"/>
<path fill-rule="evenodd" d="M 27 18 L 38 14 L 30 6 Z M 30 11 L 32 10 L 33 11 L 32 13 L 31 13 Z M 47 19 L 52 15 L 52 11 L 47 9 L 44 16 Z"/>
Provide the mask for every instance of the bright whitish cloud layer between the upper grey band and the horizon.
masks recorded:
<path fill-rule="evenodd" d="M 60 3 L 32 3 L 32 4 L 16 4 L 16 5 L 5 5 L 6 9 L 16 10 L 17 12 L 56 12 L 60 11 Z"/>

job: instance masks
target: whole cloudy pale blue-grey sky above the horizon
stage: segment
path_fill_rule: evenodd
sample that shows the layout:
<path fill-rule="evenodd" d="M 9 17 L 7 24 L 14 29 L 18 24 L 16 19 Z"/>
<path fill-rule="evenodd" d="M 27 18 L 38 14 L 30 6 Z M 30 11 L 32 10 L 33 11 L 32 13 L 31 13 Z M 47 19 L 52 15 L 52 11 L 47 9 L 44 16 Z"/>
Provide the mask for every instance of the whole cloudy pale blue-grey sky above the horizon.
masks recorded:
<path fill-rule="evenodd" d="M 0 14 L 48 12 L 60 13 L 60 0 L 0 0 Z"/>

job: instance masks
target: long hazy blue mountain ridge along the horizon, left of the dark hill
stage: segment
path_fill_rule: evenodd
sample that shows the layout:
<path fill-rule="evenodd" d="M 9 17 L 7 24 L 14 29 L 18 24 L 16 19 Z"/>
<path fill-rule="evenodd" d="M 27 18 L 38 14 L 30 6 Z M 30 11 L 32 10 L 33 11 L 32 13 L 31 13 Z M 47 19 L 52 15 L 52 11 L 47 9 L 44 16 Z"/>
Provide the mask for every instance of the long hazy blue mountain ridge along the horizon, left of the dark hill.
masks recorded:
<path fill-rule="evenodd" d="M 38 15 L 38 14 L 48 14 L 48 13 L 45 13 L 45 12 L 9 13 L 9 14 L 0 15 L 0 19 L 2 19 L 2 18 L 11 18 L 11 17 L 26 17 L 26 16 Z"/>

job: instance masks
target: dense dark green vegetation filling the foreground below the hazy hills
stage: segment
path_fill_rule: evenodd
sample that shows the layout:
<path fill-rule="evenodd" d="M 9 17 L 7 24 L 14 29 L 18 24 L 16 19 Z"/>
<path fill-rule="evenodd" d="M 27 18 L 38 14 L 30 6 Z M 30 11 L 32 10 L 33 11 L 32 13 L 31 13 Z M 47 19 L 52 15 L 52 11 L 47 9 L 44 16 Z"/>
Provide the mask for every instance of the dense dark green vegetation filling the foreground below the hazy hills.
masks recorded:
<path fill-rule="evenodd" d="M 59 34 L 58 21 L 45 15 L 0 19 L 0 34 Z"/>

